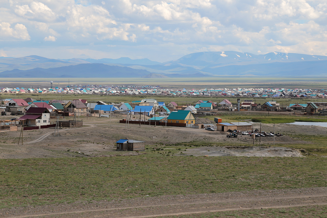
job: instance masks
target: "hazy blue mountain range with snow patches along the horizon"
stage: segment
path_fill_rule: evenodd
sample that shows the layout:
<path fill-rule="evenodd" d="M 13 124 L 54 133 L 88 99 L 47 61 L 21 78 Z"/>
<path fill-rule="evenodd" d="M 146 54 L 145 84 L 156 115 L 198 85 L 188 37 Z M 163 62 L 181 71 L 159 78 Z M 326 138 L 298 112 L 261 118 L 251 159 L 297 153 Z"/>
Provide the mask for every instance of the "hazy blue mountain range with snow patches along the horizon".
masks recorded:
<path fill-rule="evenodd" d="M 327 56 L 271 52 L 198 52 L 164 63 L 149 59 L 0 57 L 0 77 L 215 77 L 327 75 Z"/>

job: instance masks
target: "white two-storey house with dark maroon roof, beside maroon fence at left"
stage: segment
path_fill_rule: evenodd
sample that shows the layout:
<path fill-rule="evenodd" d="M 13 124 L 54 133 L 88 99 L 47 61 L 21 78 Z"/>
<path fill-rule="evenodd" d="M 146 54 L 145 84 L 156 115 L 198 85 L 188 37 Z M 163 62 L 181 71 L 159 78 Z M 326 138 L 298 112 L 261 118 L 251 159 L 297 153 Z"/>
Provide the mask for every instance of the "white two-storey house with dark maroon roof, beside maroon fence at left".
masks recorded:
<path fill-rule="evenodd" d="M 47 108 L 29 108 L 17 120 L 23 126 L 46 126 L 50 124 L 50 111 Z"/>

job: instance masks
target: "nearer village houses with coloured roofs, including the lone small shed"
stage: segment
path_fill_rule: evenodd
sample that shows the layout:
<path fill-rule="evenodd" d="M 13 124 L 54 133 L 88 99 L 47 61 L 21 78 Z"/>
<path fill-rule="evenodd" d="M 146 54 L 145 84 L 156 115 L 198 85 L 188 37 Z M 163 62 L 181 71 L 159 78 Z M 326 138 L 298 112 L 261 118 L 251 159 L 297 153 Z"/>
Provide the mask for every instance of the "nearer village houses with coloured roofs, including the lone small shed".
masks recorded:
<path fill-rule="evenodd" d="M 206 134 L 209 134 L 209 131 L 217 131 L 222 134 L 220 134 L 221 136 L 227 136 L 227 138 L 248 137 L 254 140 L 257 137 L 260 138 L 260 143 L 261 137 L 273 136 L 273 139 L 266 140 L 266 142 L 272 143 L 275 142 L 275 136 L 279 137 L 283 134 L 275 132 L 274 129 L 269 129 L 269 131 L 257 129 L 257 126 L 253 127 L 253 123 L 248 120 L 226 122 L 219 118 L 219 114 L 224 111 L 260 111 L 266 114 L 281 112 L 300 114 L 301 116 L 324 116 L 327 114 L 327 102 L 290 103 L 287 107 L 282 108 L 276 101 L 269 101 L 260 105 L 247 99 L 241 101 L 240 98 L 237 98 L 234 100 L 237 100 L 237 104 L 232 104 L 228 99 L 224 99 L 220 102 L 198 100 L 194 104 L 178 105 L 173 101 L 158 102 L 153 98 L 144 98 L 129 103 L 89 102 L 86 99 L 45 101 L 30 97 L 2 99 L 0 132 L 21 131 L 23 134 L 22 131 L 26 130 L 49 128 L 48 132 L 54 130 L 56 133 L 57 131 L 59 136 L 59 129 L 83 127 L 85 124 L 88 125 L 88 120 L 93 118 L 95 121 L 101 118 L 102 121 L 107 120 L 111 125 L 114 122 L 116 126 L 120 125 L 119 127 L 125 128 L 129 128 L 130 125 L 175 127 L 175 131 L 177 129 L 185 131 L 182 129 L 191 128 L 198 131 L 194 134 L 203 134 L 201 133 L 203 130 L 208 130 Z M 7 116 L 12 118 L 6 119 Z M 200 129 L 203 130 L 200 131 Z M 24 134 L 26 135 L 26 133 Z M 135 136 L 132 138 L 126 136 L 117 140 L 115 142 L 116 150 L 144 151 L 145 145 L 155 144 L 142 141 L 144 138 Z M 226 139 L 220 137 L 219 140 Z M 283 140 L 279 141 L 283 142 Z M 25 143 L 30 142 L 25 140 Z"/>

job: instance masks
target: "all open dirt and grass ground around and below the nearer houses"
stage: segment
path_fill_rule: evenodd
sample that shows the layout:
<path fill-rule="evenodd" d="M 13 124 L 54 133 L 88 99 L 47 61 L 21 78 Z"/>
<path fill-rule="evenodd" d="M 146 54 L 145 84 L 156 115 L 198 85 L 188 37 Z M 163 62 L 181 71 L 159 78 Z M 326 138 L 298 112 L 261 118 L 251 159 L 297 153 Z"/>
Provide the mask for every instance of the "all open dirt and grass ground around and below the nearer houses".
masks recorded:
<path fill-rule="evenodd" d="M 19 95 L 26 97 L 36 98 Z M 118 102 L 117 96 L 58 96 L 84 97 Z M 220 111 L 218 116 L 227 122 L 305 119 L 290 112 Z M 124 117 L 113 115 L 111 122 L 80 117 L 82 128 L 60 129 L 59 137 L 51 128 L 24 131 L 23 145 L 17 145 L 19 131 L 0 133 L 0 217 L 326 217 L 326 127 L 276 124 L 275 132 L 284 136 L 275 137 L 275 146 L 284 154 L 289 148 L 297 152 L 247 157 L 221 153 L 271 148 L 273 138 L 262 137 L 261 145 L 256 139 L 252 147 L 248 136 L 228 139 L 226 133 L 203 129 L 125 127 L 118 122 Z M 270 123 L 261 127 L 273 130 Z M 121 138 L 146 141 L 146 150 L 115 151 Z"/>

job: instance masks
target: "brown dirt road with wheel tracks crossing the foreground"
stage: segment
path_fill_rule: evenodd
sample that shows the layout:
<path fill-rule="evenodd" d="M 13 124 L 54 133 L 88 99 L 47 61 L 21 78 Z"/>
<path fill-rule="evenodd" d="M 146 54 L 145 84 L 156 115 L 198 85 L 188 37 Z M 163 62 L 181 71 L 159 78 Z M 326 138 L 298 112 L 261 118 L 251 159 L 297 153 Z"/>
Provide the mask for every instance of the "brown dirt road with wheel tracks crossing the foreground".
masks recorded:
<path fill-rule="evenodd" d="M 327 205 L 327 188 L 164 195 L 0 210 L 0 217 L 159 217 L 206 212 Z"/>

